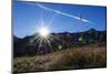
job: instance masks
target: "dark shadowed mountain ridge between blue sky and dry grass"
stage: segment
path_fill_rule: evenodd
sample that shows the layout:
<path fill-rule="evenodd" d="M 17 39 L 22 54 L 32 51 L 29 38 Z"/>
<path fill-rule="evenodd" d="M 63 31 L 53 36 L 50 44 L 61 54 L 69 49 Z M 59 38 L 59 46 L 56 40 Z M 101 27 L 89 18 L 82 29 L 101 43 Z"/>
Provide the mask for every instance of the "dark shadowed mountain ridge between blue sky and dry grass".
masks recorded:
<path fill-rule="evenodd" d="M 23 39 L 19 39 L 18 36 L 13 35 L 13 55 L 23 56 L 39 54 L 40 42 L 38 42 L 38 33 L 34 33 Z M 82 45 L 100 44 L 107 42 L 107 32 L 97 31 L 94 29 L 77 33 L 51 33 L 51 36 L 53 36 L 53 40 L 50 41 L 51 46 L 48 43 L 44 43 L 46 45 L 43 45 L 44 50 L 47 50 L 47 53 L 52 53 L 73 46 L 78 47 Z"/>

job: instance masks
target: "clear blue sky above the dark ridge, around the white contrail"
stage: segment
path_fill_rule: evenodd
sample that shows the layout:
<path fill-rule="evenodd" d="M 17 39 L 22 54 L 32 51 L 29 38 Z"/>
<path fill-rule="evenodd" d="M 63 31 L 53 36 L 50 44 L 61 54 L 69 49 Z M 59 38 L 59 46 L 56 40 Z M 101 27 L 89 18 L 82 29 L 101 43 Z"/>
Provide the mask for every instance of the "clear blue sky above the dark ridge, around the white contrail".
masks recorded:
<path fill-rule="evenodd" d="M 89 22 L 56 13 L 52 10 L 47 10 L 37 6 L 37 3 L 46 7 L 47 9 L 58 10 L 62 13 L 73 17 L 80 17 Z M 57 4 L 57 3 L 40 3 L 40 2 L 20 2 L 13 3 L 13 34 L 23 38 L 37 32 L 39 29 L 38 23 L 41 24 L 43 19 L 44 27 L 50 21 L 51 32 L 82 32 L 91 28 L 95 30 L 105 30 L 105 7 L 91 7 L 79 4 Z"/>

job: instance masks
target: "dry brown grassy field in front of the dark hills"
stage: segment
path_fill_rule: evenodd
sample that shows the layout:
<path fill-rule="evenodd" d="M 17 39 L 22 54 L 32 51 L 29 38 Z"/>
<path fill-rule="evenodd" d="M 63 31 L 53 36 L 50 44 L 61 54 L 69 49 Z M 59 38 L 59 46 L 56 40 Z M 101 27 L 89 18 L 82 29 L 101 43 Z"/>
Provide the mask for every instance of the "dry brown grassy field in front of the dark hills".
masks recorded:
<path fill-rule="evenodd" d="M 13 61 L 14 72 L 54 71 L 105 66 L 105 45 L 90 45 L 68 49 L 46 55 L 17 57 Z"/>

